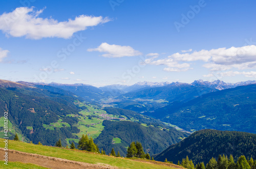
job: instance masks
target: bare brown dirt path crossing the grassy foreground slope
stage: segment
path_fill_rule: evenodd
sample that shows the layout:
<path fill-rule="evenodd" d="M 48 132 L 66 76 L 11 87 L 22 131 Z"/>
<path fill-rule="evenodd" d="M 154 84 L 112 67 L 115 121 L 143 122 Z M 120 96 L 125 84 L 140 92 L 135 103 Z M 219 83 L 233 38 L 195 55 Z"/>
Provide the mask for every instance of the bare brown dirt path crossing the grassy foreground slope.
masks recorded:
<path fill-rule="evenodd" d="M 0 148 L 0 156 L 4 156 L 4 149 Z M 78 162 L 78 161 L 72 161 L 57 157 L 48 157 L 48 156 L 42 156 L 38 154 L 31 154 L 31 153 L 24 153 L 16 150 L 8 150 L 8 161 L 19 161 L 24 163 L 32 163 L 37 164 L 40 166 L 48 167 L 48 168 L 56 168 L 56 169 L 62 169 L 62 168 L 99 168 L 99 169 L 114 169 L 116 167 L 110 166 L 108 164 L 90 164 L 86 162 Z"/>

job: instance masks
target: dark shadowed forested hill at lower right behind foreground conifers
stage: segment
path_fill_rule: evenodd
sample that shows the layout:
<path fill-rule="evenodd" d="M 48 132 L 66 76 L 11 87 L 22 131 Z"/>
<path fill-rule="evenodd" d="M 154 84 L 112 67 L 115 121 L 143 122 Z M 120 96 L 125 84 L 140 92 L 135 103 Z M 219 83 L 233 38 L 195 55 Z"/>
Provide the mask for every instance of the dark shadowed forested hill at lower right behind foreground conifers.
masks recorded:
<path fill-rule="evenodd" d="M 178 160 L 186 158 L 194 163 L 204 162 L 205 164 L 214 157 L 218 159 L 219 154 L 232 154 L 234 160 L 241 155 L 246 158 L 256 158 L 256 134 L 237 131 L 200 130 L 174 144 L 158 154 L 155 159 L 177 163 Z"/>

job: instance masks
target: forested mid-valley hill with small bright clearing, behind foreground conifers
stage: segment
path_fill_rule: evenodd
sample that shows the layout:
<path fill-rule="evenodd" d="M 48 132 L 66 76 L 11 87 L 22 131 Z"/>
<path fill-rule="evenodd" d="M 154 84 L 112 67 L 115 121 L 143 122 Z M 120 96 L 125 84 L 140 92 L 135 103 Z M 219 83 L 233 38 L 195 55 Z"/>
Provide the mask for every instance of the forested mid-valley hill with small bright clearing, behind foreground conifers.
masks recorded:
<path fill-rule="evenodd" d="M 156 154 L 171 144 L 179 142 L 180 138 L 188 136 L 187 133 L 177 131 L 174 128 L 161 130 L 158 127 L 145 127 L 129 121 L 113 122 L 105 120 L 103 126 L 105 128 L 95 139 L 95 143 L 108 153 L 114 148 L 122 156 L 126 155 L 127 147 L 132 141 L 141 142 L 145 153 Z M 116 137 L 121 139 L 120 143 L 112 142 L 113 138 Z"/>

